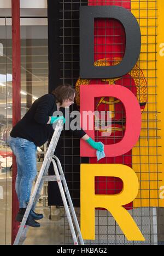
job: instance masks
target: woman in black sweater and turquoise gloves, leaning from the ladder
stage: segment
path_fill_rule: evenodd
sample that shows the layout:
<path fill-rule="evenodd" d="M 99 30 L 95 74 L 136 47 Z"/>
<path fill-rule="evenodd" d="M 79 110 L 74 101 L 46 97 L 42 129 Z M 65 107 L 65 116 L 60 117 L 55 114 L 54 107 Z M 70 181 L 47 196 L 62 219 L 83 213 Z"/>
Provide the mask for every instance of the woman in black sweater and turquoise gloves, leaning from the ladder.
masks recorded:
<path fill-rule="evenodd" d="M 16 220 L 21 222 L 27 204 L 30 200 L 32 183 L 37 175 L 37 147 L 42 146 L 54 133 L 52 125 L 64 116 L 53 116 L 60 108 L 69 107 L 74 103 L 75 90 L 71 85 L 63 84 L 57 86 L 52 93 L 45 94 L 32 104 L 25 116 L 13 127 L 10 132 L 9 144 L 15 154 L 17 164 L 17 175 L 15 190 L 19 200 L 19 212 Z M 83 130 L 77 130 L 80 138 L 90 144 L 98 151 L 103 151 L 103 145 L 95 142 Z M 36 220 L 42 219 L 43 214 L 37 214 L 31 209 L 26 225 L 39 227 Z"/>

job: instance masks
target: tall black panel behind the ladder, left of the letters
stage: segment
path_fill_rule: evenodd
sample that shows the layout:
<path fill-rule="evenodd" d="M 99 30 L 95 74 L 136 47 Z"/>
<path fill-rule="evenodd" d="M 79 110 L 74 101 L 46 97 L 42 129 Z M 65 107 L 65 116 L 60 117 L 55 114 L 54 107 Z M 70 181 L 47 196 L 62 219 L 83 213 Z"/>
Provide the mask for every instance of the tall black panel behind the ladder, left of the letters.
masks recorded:
<path fill-rule="evenodd" d="M 87 5 L 87 1 L 48 0 L 49 92 L 63 83 L 74 87 L 78 80 L 80 4 Z M 89 158 L 82 159 L 79 154 L 79 138 L 73 137 L 69 131 L 62 131 L 55 155 L 67 174 L 74 206 L 80 205 L 80 163 L 89 163 Z M 52 165 L 49 174 L 54 174 Z M 57 182 L 49 182 L 49 205 L 62 205 Z"/>

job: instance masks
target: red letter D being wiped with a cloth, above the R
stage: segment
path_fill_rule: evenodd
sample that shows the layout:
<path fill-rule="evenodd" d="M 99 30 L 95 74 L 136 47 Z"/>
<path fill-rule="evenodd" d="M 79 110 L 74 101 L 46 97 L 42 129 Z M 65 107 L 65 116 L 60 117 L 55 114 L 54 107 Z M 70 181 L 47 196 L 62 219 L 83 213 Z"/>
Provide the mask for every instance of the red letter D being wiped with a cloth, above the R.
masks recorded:
<path fill-rule="evenodd" d="M 141 114 L 140 106 L 137 98 L 134 94 L 124 86 L 120 85 L 81 85 L 80 86 L 80 114 L 81 114 L 81 127 L 83 129 L 83 112 L 91 110 L 94 112 L 95 97 L 115 97 L 120 99 L 124 104 L 126 112 L 126 130 L 124 137 L 118 143 L 105 145 L 104 152 L 106 157 L 116 157 L 118 155 L 125 154 L 130 151 L 136 144 L 140 134 L 141 128 Z M 94 127 L 94 119 L 93 127 Z M 88 129 L 88 127 L 87 127 Z M 95 140 L 95 129 L 85 130 L 87 135 L 89 135 L 93 140 Z M 102 140 L 101 140 L 102 141 Z M 95 157 L 96 151 L 91 148 L 85 141 L 80 141 L 80 155 L 81 157 Z"/>

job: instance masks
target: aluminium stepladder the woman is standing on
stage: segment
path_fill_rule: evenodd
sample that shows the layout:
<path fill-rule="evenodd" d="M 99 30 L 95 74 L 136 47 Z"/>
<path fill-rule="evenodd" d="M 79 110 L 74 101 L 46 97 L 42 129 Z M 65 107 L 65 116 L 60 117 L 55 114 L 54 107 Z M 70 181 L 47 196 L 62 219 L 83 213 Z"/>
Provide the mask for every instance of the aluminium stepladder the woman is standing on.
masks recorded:
<path fill-rule="evenodd" d="M 55 127 L 54 134 L 51 138 L 51 142 L 50 142 L 49 147 L 48 147 L 48 151 L 45 154 L 45 158 L 44 158 L 42 167 L 40 169 L 36 184 L 34 186 L 32 194 L 31 194 L 30 201 L 27 205 L 27 209 L 26 209 L 26 212 L 24 214 L 24 218 L 22 219 L 21 225 L 19 227 L 19 231 L 17 232 L 16 238 L 15 238 L 15 241 L 14 241 L 14 245 L 23 244 L 25 239 L 26 239 L 26 234 L 27 234 L 27 230 L 28 230 L 28 226 L 26 225 L 26 221 L 27 221 L 27 218 L 28 218 L 28 215 L 30 213 L 31 208 L 34 210 L 34 208 L 36 207 L 36 204 L 37 204 L 37 201 L 40 197 L 40 192 L 42 190 L 44 181 L 57 181 L 58 187 L 60 189 L 63 205 L 64 205 L 65 210 L 66 210 L 66 215 L 67 215 L 69 227 L 71 229 L 74 245 L 78 245 L 78 238 L 79 238 L 80 244 L 84 244 L 83 238 L 81 236 L 79 223 L 78 223 L 78 220 L 77 220 L 77 216 L 75 214 L 72 199 L 71 199 L 71 196 L 69 194 L 67 182 L 66 182 L 63 170 L 62 170 L 60 160 L 54 155 L 55 148 L 56 148 L 58 139 L 60 137 L 62 128 L 63 128 L 63 120 L 58 120 L 58 122 L 56 124 L 56 127 Z M 56 160 L 57 164 L 56 164 L 55 160 Z M 49 166 L 50 166 L 51 162 L 54 166 L 55 175 L 48 176 L 48 169 L 49 169 Z M 65 193 L 67 195 L 67 199 L 68 199 L 69 207 L 70 207 L 70 210 L 71 210 L 71 213 L 72 213 L 72 217 L 71 217 L 71 214 L 70 214 L 70 210 L 68 208 Z M 75 224 L 75 227 L 76 227 L 76 230 L 77 230 L 77 236 L 75 234 L 72 218 L 74 220 L 74 224 Z"/>

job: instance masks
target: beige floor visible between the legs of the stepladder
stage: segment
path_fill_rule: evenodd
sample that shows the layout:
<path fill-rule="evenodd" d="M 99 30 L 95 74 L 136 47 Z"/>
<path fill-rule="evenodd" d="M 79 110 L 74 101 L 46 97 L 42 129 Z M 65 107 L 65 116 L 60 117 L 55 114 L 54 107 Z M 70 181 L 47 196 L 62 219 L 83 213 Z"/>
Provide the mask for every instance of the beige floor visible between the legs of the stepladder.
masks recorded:
<path fill-rule="evenodd" d="M 44 218 L 39 220 L 40 227 L 30 227 L 24 244 L 73 244 L 71 231 L 68 226 L 63 207 L 51 207 L 51 219 L 49 209 L 36 209 L 37 213 L 43 213 Z M 79 208 L 75 208 L 79 221 Z"/>

